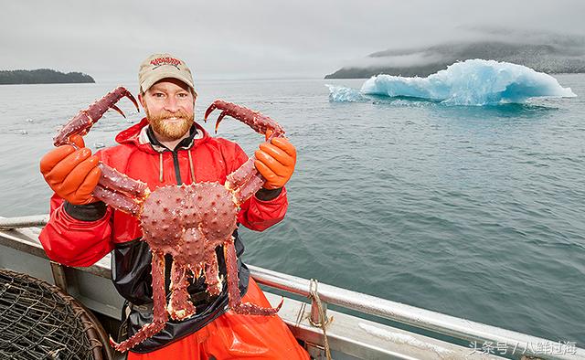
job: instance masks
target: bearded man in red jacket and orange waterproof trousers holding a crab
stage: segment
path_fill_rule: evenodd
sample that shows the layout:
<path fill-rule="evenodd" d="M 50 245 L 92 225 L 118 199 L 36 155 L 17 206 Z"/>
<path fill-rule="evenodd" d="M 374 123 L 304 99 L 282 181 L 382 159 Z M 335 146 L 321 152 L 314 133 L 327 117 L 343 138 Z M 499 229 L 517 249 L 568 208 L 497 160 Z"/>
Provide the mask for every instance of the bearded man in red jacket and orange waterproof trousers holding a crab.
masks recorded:
<path fill-rule="evenodd" d="M 140 66 L 139 101 L 146 117 L 116 136 L 119 143 L 95 155 L 80 136 L 59 146 L 40 162 L 41 173 L 55 191 L 51 217 L 40 234 L 50 259 L 69 266 L 90 266 L 112 251 L 112 281 L 130 304 L 129 336 L 151 323 L 151 253 L 136 218 L 114 210 L 91 196 L 101 175 L 99 161 L 148 184 L 151 190 L 164 185 L 199 182 L 224 183 L 226 176 L 248 156 L 238 144 L 212 138 L 194 122 L 197 92 L 185 62 L 168 54 L 154 54 Z M 288 206 L 284 184 L 293 175 L 296 153 L 284 138 L 262 143 L 255 163 L 267 182 L 242 204 L 238 221 L 262 231 L 278 223 Z M 234 238 L 238 256 L 244 247 Z M 217 249 L 219 270 L 225 278 L 223 251 Z M 171 259 L 167 258 L 168 291 Z M 262 307 L 270 303 L 239 261 L 242 302 Z M 169 321 L 165 329 L 136 345 L 129 359 L 197 358 L 308 358 L 278 316 L 239 315 L 227 311 L 224 284 L 218 296 L 210 296 L 203 279 L 188 287 L 197 313 L 180 322 Z"/>

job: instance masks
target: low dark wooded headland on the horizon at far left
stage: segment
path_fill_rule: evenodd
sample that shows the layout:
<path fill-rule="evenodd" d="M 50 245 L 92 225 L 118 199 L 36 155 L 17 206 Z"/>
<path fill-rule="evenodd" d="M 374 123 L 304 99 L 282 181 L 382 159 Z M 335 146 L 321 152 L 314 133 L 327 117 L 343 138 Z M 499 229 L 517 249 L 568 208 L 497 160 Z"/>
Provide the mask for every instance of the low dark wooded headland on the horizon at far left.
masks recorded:
<path fill-rule="evenodd" d="M 81 72 L 69 72 L 65 74 L 52 69 L 0 70 L 0 85 L 79 82 L 95 82 L 95 80 L 90 75 Z"/>

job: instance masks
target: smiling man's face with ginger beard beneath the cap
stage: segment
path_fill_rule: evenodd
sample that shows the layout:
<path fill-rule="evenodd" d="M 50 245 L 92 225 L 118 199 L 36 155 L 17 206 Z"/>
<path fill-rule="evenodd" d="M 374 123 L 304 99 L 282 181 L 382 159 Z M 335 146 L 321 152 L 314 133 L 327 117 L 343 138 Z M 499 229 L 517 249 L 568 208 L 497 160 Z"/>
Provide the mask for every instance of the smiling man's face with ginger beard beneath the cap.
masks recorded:
<path fill-rule="evenodd" d="M 189 87 L 178 79 L 162 79 L 140 96 L 146 118 L 163 142 L 183 137 L 195 119 L 195 99 Z"/>

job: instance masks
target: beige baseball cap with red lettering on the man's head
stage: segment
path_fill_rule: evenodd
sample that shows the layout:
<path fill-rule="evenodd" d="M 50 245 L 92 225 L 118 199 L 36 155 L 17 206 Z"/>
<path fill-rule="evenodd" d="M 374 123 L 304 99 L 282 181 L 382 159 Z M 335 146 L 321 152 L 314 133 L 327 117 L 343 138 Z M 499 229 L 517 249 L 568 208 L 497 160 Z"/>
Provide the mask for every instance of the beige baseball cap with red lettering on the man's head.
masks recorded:
<path fill-rule="evenodd" d="M 174 78 L 185 82 L 197 96 L 191 70 L 185 61 L 170 54 L 153 54 L 144 59 L 138 70 L 138 86 L 144 92 L 160 79 Z"/>

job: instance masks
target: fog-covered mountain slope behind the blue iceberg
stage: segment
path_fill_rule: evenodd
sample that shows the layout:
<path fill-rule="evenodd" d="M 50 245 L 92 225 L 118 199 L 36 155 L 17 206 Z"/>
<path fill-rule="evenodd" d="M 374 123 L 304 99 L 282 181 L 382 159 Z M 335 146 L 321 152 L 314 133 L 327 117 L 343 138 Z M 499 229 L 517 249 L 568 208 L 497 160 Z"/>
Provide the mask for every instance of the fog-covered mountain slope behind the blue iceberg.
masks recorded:
<path fill-rule="evenodd" d="M 426 77 L 470 58 L 506 61 L 546 73 L 585 72 L 585 40 L 546 44 L 474 41 L 388 49 L 338 69 L 325 79 L 363 79 L 378 74 Z"/>

